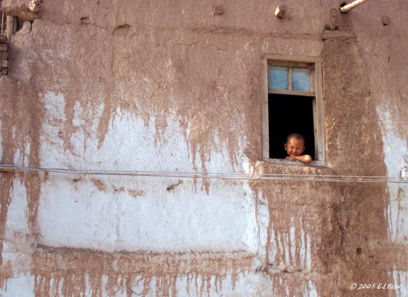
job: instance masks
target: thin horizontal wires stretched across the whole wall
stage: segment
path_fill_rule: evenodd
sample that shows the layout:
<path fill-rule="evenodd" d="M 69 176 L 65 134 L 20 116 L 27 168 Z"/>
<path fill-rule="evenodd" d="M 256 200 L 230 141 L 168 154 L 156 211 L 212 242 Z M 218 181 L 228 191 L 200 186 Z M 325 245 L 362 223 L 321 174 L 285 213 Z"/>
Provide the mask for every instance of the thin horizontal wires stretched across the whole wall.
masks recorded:
<path fill-rule="evenodd" d="M 359 182 L 359 183 L 408 183 L 407 177 L 365 177 L 335 175 L 289 175 L 289 174 L 239 174 L 210 172 L 170 172 L 170 171 L 115 171 L 115 170 L 81 170 L 63 168 L 36 168 L 15 165 L 0 165 L 0 171 L 42 171 L 56 174 L 80 176 L 131 176 L 131 177 L 164 177 L 164 178 L 198 178 L 224 180 L 276 180 L 276 181 L 315 181 L 315 182 Z"/>

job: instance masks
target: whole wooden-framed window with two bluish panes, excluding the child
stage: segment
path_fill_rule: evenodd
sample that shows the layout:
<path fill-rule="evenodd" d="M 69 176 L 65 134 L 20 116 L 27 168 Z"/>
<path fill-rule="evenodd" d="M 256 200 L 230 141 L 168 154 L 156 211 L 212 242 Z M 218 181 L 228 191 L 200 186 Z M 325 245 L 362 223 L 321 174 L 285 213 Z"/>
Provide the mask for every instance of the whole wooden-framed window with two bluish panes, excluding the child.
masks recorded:
<path fill-rule="evenodd" d="M 310 165 L 324 165 L 322 59 L 268 56 L 261 79 L 263 158 L 284 159 L 286 137 L 300 133 Z"/>

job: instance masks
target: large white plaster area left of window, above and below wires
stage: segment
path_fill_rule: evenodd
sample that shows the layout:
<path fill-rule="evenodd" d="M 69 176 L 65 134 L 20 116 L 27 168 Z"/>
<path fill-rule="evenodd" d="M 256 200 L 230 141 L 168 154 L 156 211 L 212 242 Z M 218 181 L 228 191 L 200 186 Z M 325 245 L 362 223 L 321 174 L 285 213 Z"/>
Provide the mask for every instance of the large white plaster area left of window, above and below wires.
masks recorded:
<path fill-rule="evenodd" d="M 80 129 L 70 138 L 71 152 L 52 137 L 65 121 L 59 109 L 63 97 L 45 97 L 59 101 L 58 107 L 46 103 L 50 116 L 43 127 L 41 148 L 45 167 L 194 171 L 191 145 L 181 133 L 179 116 L 167 118 L 167 128 L 158 139 L 155 117 L 146 127 L 142 119 L 118 109 L 99 148 L 96 130 L 85 137 Z M 82 122 L 80 116 L 78 107 L 75 122 Z M 213 172 L 232 172 L 226 144 L 215 139 L 214 145 L 206 167 Z M 73 178 L 50 175 L 42 184 L 38 209 L 42 244 L 109 252 L 258 249 L 255 203 L 248 186 L 243 194 L 246 182 L 211 180 L 208 188 L 203 180 L 194 184 L 184 179 L 184 184 L 168 191 L 179 178 L 93 176 L 79 182 Z"/>

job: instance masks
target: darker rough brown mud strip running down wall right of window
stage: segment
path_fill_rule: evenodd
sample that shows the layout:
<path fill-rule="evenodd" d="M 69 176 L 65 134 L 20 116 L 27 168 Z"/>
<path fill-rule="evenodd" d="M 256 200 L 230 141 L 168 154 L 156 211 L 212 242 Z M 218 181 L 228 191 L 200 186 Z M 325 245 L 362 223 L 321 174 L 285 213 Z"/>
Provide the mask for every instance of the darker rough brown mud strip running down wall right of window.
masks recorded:
<path fill-rule="evenodd" d="M 338 16 L 340 31 L 353 33 L 352 24 L 345 15 Z M 323 91 L 326 115 L 326 159 L 336 174 L 356 176 L 386 176 L 383 164 L 380 128 L 375 103 L 371 101 L 367 65 L 362 58 L 356 39 L 327 39 L 324 41 Z M 374 117 L 374 118 L 373 118 Z M 339 158 L 337 156 L 345 156 Z M 347 158 L 347 160 L 344 160 Z M 389 263 L 379 260 L 377 269 L 371 268 L 372 258 L 381 259 L 386 252 L 380 243 L 388 243 L 389 194 L 386 184 L 344 184 L 338 188 L 342 202 L 333 205 L 330 227 L 332 236 L 338 234 L 340 242 L 324 236 L 325 248 L 333 246 L 336 257 L 320 252 L 320 258 L 332 263 L 338 271 L 349 271 L 344 279 L 370 283 L 377 279 L 392 283 Z M 338 240 L 337 239 L 337 240 Z M 341 257 L 341 261 L 339 259 Z M 338 279 L 341 291 L 349 288 L 344 279 Z M 378 294 L 379 292 L 376 292 Z"/>

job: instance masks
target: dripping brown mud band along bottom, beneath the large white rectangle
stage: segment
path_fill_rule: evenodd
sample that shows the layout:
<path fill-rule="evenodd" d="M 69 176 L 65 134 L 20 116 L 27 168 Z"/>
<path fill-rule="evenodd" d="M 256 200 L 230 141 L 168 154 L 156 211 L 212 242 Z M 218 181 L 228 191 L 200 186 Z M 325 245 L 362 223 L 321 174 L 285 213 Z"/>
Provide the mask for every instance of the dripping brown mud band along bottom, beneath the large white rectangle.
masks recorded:
<path fill-rule="evenodd" d="M 93 295 L 118 291 L 135 293 L 132 287 L 143 284 L 142 296 L 148 296 L 155 282 L 160 296 L 176 295 L 176 280 L 185 279 L 188 290 L 197 295 L 209 293 L 211 280 L 221 289 L 226 275 L 233 287 L 238 275 L 251 269 L 253 256 L 245 252 L 177 254 L 100 253 L 90 250 L 51 249 L 39 246 L 33 258 L 35 292 L 53 296 L 61 288 L 64 295 L 80 295 L 91 289 Z M 182 272 L 184 271 L 184 272 Z M 198 279 L 201 285 L 198 284 Z M 107 284 L 104 286 L 104 281 Z M 195 283 L 195 287 L 191 287 Z"/>

